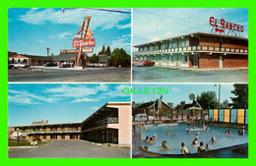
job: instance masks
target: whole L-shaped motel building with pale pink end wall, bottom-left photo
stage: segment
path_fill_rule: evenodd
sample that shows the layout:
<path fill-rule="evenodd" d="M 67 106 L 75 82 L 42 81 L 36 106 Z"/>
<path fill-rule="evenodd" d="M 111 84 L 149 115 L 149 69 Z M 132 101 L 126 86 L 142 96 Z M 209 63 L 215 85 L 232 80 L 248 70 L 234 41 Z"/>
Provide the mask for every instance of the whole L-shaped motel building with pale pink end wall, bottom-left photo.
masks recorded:
<path fill-rule="evenodd" d="M 131 144 L 131 103 L 107 102 L 82 123 L 45 124 L 8 127 L 8 138 L 13 133 L 29 140 L 85 139 L 94 142 Z M 17 136 L 17 135 L 16 135 Z"/>

